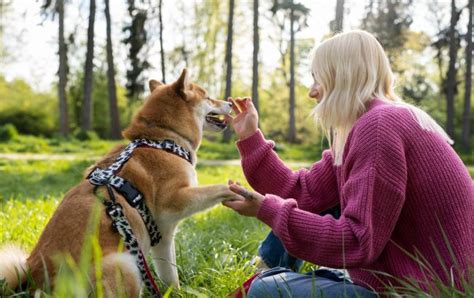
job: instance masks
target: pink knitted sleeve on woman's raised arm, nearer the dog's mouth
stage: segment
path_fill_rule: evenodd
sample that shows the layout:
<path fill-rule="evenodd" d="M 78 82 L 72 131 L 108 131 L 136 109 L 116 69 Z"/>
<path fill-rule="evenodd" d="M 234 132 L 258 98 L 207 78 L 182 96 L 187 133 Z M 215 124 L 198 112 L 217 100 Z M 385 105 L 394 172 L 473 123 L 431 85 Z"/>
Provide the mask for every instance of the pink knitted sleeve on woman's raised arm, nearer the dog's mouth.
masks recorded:
<path fill-rule="evenodd" d="M 274 142 L 261 131 L 237 142 L 242 169 L 249 184 L 262 194 L 294 198 L 300 208 L 322 212 L 339 203 L 335 167 L 329 150 L 310 170 L 292 171 L 273 150 Z"/>

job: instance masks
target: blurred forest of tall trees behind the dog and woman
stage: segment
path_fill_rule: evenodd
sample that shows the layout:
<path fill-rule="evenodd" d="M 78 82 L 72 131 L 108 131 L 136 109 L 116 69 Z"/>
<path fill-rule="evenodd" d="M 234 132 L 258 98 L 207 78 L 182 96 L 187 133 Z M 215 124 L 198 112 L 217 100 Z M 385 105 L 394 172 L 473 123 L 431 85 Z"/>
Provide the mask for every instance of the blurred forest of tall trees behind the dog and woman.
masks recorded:
<path fill-rule="evenodd" d="M 324 5 L 330 9 L 324 13 L 334 16 L 325 28 L 310 28 L 312 13 L 315 18 L 323 13 L 312 12 L 318 6 L 310 2 L 37 1 L 38 26 L 48 23 L 56 30 L 54 39 L 49 37 L 56 43 L 51 45 L 55 53 L 49 53 L 57 64 L 55 78 L 38 92 L 24 78 L 6 80 L 4 73 L 0 125 L 10 123 L 20 134 L 118 139 L 146 96 L 148 80 L 170 82 L 187 67 L 192 81 L 215 98 L 251 96 L 261 127 L 272 138 L 318 143 L 318 130 L 308 119 L 312 102 L 307 90 L 311 49 L 320 40 L 311 33 L 317 29 L 324 39 L 360 28 L 385 48 L 398 94 L 442 124 L 456 148 L 470 152 L 469 3 L 334 2 Z M 13 1 L 2 1 L 0 7 L 0 34 L 12 35 Z M 423 20 L 417 23 L 416 18 Z M 16 38 L 16 43 L 0 45 L 4 66 L 15 59 L 21 34 Z M 231 138 L 228 130 L 222 141 Z"/>

